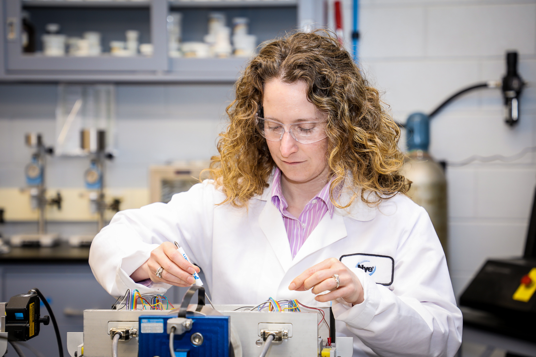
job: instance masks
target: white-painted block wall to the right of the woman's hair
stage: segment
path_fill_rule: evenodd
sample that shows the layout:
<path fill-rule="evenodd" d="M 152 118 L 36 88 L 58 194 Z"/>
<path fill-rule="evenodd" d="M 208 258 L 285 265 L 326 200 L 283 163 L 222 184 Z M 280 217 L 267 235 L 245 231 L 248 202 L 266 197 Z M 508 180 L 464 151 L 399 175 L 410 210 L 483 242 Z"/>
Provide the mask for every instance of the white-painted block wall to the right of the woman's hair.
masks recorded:
<path fill-rule="evenodd" d="M 385 102 L 401 122 L 414 111 L 430 112 L 458 89 L 500 80 L 505 51 L 517 49 L 520 54 L 519 73 L 529 87 L 523 93 L 519 125 L 504 124 L 499 89 L 468 93 L 432 121 L 434 157 L 456 162 L 472 155 L 510 156 L 536 146 L 536 1 L 360 3 L 361 66 L 370 82 L 384 90 Z M 512 163 L 449 166 L 446 176 L 449 269 L 459 296 L 488 257 L 522 254 L 536 159 L 528 154 Z"/>

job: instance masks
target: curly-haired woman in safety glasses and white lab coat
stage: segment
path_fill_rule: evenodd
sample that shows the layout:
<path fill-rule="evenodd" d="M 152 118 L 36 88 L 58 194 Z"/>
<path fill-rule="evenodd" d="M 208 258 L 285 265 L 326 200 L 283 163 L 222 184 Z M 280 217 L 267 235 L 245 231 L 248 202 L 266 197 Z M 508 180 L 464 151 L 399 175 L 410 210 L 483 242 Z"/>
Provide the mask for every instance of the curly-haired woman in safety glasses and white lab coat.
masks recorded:
<path fill-rule="evenodd" d="M 118 212 L 90 264 L 115 296 L 205 273 L 213 302 L 335 302 L 354 356 L 452 356 L 461 341 L 445 256 L 404 193 L 399 130 L 324 33 L 266 44 L 236 84 L 211 180 Z M 315 301 L 316 300 L 316 301 Z"/>

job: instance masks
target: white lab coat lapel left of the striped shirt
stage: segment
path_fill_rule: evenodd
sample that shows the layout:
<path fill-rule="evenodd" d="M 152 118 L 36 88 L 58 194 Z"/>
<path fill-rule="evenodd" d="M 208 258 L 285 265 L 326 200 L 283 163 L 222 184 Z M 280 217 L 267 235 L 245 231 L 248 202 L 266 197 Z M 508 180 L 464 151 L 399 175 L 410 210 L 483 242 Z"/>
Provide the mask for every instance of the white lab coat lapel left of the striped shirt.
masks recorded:
<path fill-rule="evenodd" d="M 260 229 L 270 242 L 281 267 L 287 271 L 292 265 L 291 246 L 288 243 L 287 231 L 281 212 L 273 205 L 271 200 L 266 200 L 263 210 L 259 215 Z"/>

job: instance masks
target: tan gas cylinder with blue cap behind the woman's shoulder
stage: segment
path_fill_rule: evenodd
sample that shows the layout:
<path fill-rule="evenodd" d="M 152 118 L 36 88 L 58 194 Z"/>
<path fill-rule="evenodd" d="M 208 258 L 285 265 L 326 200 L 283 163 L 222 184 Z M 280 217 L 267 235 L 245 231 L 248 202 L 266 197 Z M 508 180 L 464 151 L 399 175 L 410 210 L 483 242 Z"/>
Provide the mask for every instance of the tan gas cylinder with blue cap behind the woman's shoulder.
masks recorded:
<path fill-rule="evenodd" d="M 400 173 L 412 181 L 407 196 L 426 209 L 447 255 L 446 178 L 443 167 L 428 154 L 429 123 L 428 116 L 423 113 L 413 113 L 407 119 L 405 125 L 407 155 Z"/>

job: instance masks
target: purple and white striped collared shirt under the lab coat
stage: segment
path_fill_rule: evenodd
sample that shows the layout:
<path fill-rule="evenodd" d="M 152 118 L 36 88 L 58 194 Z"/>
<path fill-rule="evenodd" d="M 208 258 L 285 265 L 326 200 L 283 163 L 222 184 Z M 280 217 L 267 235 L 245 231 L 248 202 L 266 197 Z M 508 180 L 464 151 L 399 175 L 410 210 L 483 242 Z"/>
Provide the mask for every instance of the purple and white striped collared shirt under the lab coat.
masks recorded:
<path fill-rule="evenodd" d="M 281 171 L 276 168 L 272 181 L 272 203 L 276 206 L 285 223 L 288 242 L 291 245 L 292 258 L 296 256 L 309 234 L 315 229 L 322 217 L 329 212 L 333 218 L 335 207 L 330 200 L 330 183 L 327 183 L 318 194 L 303 208 L 300 217 L 294 217 L 287 211 L 287 200 L 281 189 Z"/>

